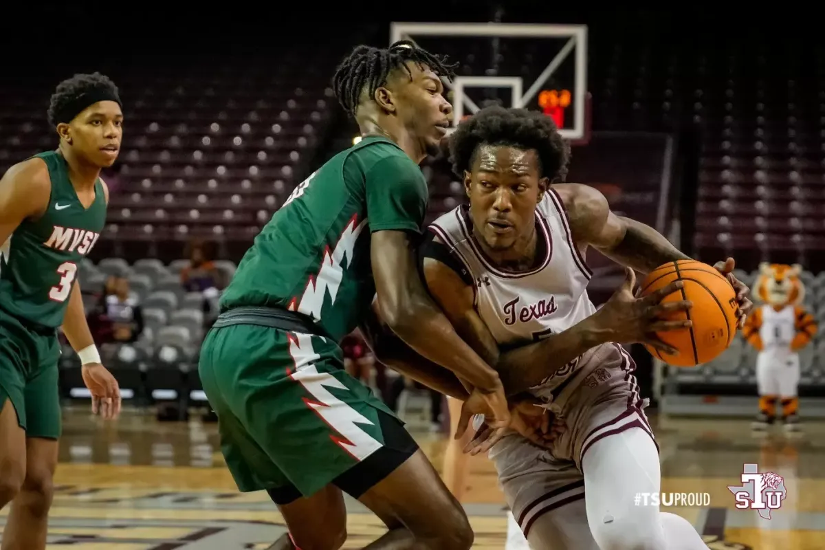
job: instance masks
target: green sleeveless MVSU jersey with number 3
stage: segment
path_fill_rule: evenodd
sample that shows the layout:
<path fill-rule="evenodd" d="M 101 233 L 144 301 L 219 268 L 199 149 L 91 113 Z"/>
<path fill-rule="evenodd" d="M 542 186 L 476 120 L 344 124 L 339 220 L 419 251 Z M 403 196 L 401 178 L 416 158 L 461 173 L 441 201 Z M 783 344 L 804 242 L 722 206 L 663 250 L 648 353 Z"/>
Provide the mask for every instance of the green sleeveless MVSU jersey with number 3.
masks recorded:
<path fill-rule="evenodd" d="M 106 223 L 106 195 L 84 208 L 62 154 L 40 153 L 49 167 L 51 196 L 45 214 L 25 219 L 0 247 L 0 308 L 41 327 L 63 324 L 78 264 L 92 251 Z"/>

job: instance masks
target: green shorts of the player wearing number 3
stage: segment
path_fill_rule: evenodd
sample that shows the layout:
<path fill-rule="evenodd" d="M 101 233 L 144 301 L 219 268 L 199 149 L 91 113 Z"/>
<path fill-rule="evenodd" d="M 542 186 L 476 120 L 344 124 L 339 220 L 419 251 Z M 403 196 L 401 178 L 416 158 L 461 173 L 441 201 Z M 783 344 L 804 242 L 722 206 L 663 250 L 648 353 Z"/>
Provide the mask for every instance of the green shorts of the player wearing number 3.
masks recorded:
<path fill-rule="evenodd" d="M 0 410 L 9 399 L 26 437 L 60 437 L 57 332 L 0 309 Z"/>

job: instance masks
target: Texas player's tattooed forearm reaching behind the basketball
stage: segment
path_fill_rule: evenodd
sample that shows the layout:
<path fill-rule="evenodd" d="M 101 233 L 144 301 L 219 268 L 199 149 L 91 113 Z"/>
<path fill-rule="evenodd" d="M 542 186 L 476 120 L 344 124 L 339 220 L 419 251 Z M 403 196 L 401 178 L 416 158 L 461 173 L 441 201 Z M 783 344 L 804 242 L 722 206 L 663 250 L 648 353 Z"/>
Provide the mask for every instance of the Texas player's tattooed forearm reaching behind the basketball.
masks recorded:
<path fill-rule="evenodd" d="M 647 275 L 668 261 L 691 259 L 650 226 L 634 219 L 623 220 L 627 224 L 625 237 L 612 247 L 599 247 L 611 260 Z"/>

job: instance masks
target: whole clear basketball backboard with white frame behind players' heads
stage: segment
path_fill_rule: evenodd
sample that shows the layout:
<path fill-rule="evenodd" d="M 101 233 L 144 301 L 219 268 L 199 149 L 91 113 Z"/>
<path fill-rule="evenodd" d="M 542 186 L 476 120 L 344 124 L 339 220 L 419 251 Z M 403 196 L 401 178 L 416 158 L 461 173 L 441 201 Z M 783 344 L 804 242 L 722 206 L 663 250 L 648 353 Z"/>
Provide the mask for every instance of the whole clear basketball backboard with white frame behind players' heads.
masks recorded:
<path fill-rule="evenodd" d="M 565 139 L 587 139 L 587 26 L 394 22 L 390 41 L 397 40 L 461 63 L 455 80 L 445 82 L 455 125 L 479 111 L 483 96 L 494 96 L 505 106 L 544 110 Z"/>

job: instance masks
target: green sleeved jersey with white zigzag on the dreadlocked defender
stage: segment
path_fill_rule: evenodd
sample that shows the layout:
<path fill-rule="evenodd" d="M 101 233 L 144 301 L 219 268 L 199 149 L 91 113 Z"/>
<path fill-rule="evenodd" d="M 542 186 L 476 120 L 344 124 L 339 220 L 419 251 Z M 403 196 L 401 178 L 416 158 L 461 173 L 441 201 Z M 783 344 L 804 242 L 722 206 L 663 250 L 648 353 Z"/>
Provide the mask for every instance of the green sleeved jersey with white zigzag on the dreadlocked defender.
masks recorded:
<path fill-rule="evenodd" d="M 389 139 L 362 139 L 285 200 L 243 257 L 221 309 L 286 308 L 339 340 L 375 297 L 371 233 L 421 233 L 426 211 L 421 168 Z"/>

